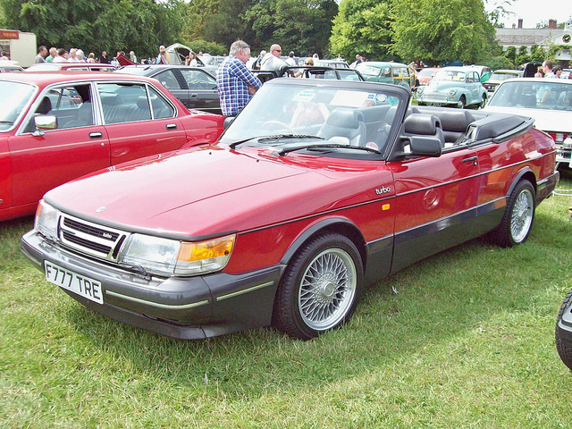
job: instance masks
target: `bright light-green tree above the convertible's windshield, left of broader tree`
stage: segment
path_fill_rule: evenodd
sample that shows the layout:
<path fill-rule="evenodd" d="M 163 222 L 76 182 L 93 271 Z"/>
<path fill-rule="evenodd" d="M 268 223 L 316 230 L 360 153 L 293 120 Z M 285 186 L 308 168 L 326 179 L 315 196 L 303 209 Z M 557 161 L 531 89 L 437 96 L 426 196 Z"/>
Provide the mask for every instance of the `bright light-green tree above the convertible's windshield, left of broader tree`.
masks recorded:
<path fill-rule="evenodd" d="M 397 59 L 391 47 L 391 0 L 341 0 L 333 20 L 331 50 L 353 58 L 356 54 L 374 60 Z"/>

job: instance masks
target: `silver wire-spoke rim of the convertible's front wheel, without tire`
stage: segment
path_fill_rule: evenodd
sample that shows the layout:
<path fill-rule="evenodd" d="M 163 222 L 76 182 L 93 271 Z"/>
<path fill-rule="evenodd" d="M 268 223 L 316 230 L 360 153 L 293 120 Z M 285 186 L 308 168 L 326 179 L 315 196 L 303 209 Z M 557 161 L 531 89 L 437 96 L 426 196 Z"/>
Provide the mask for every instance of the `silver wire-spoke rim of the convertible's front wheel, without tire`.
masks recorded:
<path fill-rule="evenodd" d="M 317 255 L 302 276 L 299 311 L 316 331 L 338 324 L 348 313 L 356 293 L 356 266 L 340 248 Z"/>

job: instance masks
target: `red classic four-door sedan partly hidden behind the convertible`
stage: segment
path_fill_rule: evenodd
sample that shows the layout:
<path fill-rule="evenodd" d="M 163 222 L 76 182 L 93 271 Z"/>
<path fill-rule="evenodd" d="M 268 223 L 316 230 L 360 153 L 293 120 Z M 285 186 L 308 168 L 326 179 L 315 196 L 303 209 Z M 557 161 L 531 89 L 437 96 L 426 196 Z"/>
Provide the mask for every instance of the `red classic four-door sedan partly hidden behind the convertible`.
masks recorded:
<path fill-rule="evenodd" d="M 223 117 L 189 112 L 156 80 L 104 72 L 0 78 L 0 221 L 48 189 L 141 156 L 214 141 Z"/>

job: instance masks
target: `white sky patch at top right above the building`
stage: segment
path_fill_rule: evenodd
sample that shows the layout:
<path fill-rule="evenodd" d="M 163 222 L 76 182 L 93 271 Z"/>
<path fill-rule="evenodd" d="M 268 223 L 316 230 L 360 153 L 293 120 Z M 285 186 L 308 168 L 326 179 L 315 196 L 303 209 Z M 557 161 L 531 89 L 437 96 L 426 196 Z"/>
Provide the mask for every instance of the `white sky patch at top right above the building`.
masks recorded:
<path fill-rule="evenodd" d="M 496 2 L 492 0 L 488 3 L 499 4 L 501 0 L 496 0 Z M 486 8 L 487 10 L 490 9 L 490 5 L 487 5 Z M 558 22 L 568 21 L 572 15 L 572 4 L 567 0 L 514 0 L 512 4 L 505 6 L 505 9 L 515 13 L 508 18 L 502 18 L 501 22 L 504 22 L 507 29 L 511 29 L 513 23 L 518 25 L 518 18 L 523 19 L 523 28 L 534 29 L 538 22 L 549 19 Z"/>

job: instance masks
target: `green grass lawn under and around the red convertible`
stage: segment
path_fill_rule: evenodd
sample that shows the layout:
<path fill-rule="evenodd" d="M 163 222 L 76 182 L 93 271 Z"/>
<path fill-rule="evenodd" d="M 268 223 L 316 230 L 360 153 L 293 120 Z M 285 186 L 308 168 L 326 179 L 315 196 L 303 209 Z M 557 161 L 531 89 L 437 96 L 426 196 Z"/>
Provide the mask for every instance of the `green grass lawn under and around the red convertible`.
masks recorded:
<path fill-rule="evenodd" d="M 372 285 L 347 326 L 307 342 L 106 319 L 21 256 L 32 219 L 0 223 L 0 428 L 568 428 L 554 324 L 569 203 L 543 202 L 523 246 L 473 240 Z"/>

